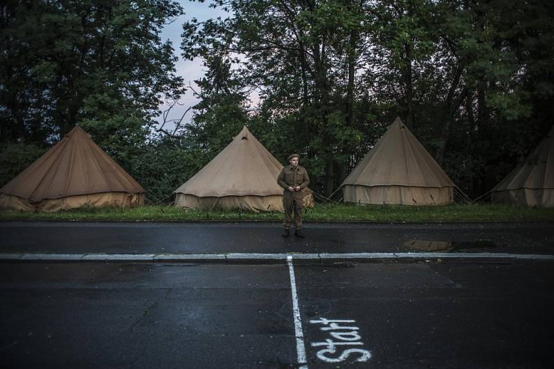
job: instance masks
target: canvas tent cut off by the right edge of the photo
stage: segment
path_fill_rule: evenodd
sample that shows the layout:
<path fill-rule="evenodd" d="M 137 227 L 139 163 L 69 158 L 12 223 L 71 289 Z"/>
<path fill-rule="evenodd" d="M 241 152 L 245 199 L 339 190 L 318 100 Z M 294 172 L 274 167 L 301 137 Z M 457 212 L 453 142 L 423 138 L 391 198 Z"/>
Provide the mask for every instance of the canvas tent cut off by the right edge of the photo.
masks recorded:
<path fill-rule="evenodd" d="M 554 207 L 554 126 L 525 160 L 491 190 L 493 202 Z"/>

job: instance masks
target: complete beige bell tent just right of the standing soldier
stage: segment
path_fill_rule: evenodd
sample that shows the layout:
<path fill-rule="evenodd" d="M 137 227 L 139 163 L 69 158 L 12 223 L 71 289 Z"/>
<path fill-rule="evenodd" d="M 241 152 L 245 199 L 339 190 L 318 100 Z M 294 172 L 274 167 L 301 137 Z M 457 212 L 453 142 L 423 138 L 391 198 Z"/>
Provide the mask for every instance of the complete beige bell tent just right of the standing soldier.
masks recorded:
<path fill-rule="evenodd" d="M 454 202 L 454 182 L 400 118 L 344 180 L 344 202 L 444 205 Z"/>

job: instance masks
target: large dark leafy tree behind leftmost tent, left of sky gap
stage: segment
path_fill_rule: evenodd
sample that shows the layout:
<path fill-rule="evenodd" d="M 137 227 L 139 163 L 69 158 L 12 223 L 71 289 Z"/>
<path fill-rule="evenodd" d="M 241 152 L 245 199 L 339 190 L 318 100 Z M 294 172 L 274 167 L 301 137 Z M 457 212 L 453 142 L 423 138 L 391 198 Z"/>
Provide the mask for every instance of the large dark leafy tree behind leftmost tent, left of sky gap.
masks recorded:
<path fill-rule="evenodd" d="M 112 155 L 143 142 L 184 92 L 159 32 L 171 0 L 8 0 L 0 6 L 0 136 L 50 144 L 82 124 Z M 123 155 L 120 155 L 123 157 Z"/>

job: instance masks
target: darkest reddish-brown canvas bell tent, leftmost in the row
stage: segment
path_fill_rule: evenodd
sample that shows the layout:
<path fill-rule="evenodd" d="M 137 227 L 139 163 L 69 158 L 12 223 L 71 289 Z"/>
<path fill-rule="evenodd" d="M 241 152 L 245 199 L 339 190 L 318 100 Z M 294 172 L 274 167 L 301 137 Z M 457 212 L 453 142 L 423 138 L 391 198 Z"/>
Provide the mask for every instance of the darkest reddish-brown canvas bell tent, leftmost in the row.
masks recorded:
<path fill-rule="evenodd" d="M 0 207 L 57 211 L 142 205 L 144 189 L 75 126 L 0 189 Z"/>

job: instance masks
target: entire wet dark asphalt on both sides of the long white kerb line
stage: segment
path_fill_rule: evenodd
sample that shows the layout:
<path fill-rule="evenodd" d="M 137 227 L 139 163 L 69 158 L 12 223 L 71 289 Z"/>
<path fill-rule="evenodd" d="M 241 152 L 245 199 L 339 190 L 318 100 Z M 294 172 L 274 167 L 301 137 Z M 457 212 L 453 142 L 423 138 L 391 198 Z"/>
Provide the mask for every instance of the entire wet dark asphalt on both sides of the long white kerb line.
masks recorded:
<path fill-rule="evenodd" d="M 0 253 L 553 255 L 553 225 L 4 222 Z M 0 261 L 0 367 L 299 368 L 298 324 L 308 368 L 552 366 L 552 259 L 292 265 Z"/>

